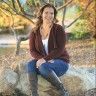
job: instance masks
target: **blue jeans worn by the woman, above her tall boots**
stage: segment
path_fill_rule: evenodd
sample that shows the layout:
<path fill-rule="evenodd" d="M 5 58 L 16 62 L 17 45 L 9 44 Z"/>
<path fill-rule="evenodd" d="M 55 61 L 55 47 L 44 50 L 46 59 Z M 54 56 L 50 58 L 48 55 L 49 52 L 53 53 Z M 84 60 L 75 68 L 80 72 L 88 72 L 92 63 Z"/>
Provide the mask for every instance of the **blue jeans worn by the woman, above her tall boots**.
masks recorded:
<path fill-rule="evenodd" d="M 36 68 L 36 60 L 31 60 L 27 65 L 27 72 L 34 73 L 36 72 L 38 75 L 44 74 L 48 75 L 49 72 L 54 71 L 58 77 L 62 76 L 66 73 L 69 68 L 69 64 L 64 62 L 61 59 L 54 59 L 54 62 L 45 62 L 39 68 Z"/>

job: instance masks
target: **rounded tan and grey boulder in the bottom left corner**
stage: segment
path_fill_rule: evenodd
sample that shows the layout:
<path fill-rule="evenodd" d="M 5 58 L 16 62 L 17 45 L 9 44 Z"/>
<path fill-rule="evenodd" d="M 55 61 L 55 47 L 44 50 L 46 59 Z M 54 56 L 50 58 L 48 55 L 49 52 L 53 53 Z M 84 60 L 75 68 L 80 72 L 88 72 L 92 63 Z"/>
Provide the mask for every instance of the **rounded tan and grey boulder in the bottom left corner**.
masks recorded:
<path fill-rule="evenodd" d="M 18 80 L 17 73 L 8 67 L 2 67 L 0 69 L 0 92 L 7 95 L 13 93 Z"/>

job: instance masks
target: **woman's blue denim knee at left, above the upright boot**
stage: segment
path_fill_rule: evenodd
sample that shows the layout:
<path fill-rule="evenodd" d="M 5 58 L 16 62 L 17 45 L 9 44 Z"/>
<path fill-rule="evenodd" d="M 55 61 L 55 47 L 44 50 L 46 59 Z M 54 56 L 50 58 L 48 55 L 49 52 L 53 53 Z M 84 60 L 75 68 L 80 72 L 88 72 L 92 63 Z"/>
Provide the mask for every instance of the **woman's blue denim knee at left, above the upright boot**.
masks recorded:
<path fill-rule="evenodd" d="M 31 60 L 27 64 L 27 72 L 35 72 L 36 71 L 36 60 Z"/>

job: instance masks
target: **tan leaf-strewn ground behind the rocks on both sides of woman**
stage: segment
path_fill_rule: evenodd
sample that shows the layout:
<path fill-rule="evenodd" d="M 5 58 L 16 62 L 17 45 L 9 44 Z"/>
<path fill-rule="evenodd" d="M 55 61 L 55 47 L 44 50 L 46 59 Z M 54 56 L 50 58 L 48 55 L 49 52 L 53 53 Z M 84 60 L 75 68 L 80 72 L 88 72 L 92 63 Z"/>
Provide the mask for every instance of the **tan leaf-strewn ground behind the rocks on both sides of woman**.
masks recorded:
<path fill-rule="evenodd" d="M 29 54 L 28 45 L 26 46 L 21 45 L 20 54 L 18 56 L 15 55 L 14 46 L 0 48 L 0 67 L 16 66 L 16 64 L 30 60 L 31 55 Z M 73 66 L 95 67 L 95 45 L 92 40 L 68 41 L 66 49 L 70 55 L 70 64 Z M 13 67 L 15 68 L 15 66 Z"/>

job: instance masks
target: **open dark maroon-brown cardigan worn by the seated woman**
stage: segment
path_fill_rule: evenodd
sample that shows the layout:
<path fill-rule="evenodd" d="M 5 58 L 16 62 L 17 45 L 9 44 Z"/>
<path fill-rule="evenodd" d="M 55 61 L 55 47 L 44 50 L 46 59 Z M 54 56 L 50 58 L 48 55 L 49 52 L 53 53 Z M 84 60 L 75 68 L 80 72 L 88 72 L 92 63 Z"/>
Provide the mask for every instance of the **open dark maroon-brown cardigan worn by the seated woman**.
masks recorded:
<path fill-rule="evenodd" d="M 40 28 L 36 32 L 31 32 L 29 37 L 30 53 L 36 60 L 44 58 L 45 60 L 63 59 L 69 63 L 69 55 L 65 48 L 66 36 L 63 27 L 58 24 L 53 24 L 48 40 L 48 55 L 43 47 Z"/>

